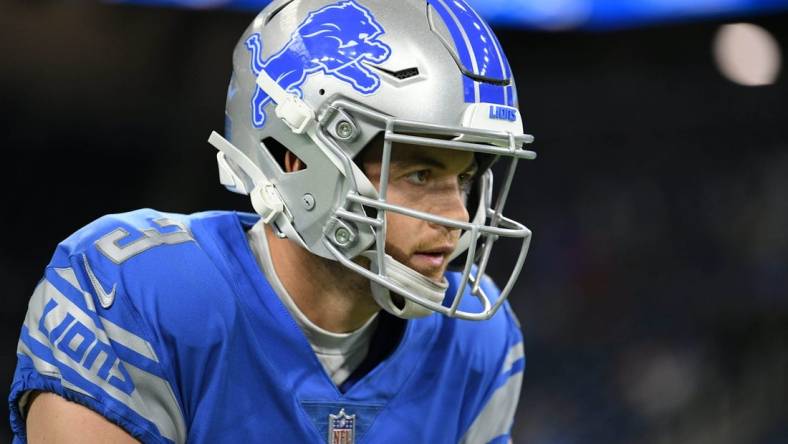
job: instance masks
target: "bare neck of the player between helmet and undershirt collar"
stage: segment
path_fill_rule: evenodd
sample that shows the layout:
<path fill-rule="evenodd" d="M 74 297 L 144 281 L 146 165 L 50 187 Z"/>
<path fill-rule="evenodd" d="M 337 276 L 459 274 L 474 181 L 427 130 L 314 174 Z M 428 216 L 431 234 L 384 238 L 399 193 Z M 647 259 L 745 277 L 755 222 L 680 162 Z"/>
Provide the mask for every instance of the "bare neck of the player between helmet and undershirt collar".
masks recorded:
<path fill-rule="evenodd" d="M 334 333 L 354 331 L 380 307 L 369 281 L 335 261 L 316 256 L 266 227 L 274 270 L 299 310 L 315 325 Z"/>

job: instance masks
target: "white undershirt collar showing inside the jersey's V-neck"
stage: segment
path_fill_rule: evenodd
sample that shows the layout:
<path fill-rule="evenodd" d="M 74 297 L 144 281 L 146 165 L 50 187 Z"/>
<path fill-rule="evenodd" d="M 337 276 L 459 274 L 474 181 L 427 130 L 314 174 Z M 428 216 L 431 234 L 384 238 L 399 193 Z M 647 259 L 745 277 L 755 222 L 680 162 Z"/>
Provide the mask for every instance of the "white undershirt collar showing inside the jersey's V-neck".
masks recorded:
<path fill-rule="evenodd" d="M 341 385 L 367 356 L 369 343 L 377 326 L 377 313 L 360 328 L 350 333 L 332 333 L 318 327 L 301 312 L 276 275 L 262 221 L 256 223 L 246 233 L 246 238 L 271 288 L 301 327 L 301 331 L 328 376 L 336 386 Z"/>

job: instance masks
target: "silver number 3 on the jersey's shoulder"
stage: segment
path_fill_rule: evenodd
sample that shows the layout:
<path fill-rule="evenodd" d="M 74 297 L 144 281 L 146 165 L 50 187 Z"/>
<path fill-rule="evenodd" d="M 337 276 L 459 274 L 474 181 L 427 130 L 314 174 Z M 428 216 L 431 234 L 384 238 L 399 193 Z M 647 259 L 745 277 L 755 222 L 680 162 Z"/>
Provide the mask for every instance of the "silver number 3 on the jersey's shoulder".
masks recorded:
<path fill-rule="evenodd" d="M 142 237 L 126 245 L 118 243 L 129 237 L 129 232 L 117 228 L 96 241 L 96 248 L 109 260 L 121 264 L 129 258 L 159 245 L 175 245 L 194 240 L 189 230 L 180 222 L 172 219 L 156 219 L 153 221 L 160 228 L 176 227 L 174 231 L 163 233 L 156 228 L 142 230 Z"/>

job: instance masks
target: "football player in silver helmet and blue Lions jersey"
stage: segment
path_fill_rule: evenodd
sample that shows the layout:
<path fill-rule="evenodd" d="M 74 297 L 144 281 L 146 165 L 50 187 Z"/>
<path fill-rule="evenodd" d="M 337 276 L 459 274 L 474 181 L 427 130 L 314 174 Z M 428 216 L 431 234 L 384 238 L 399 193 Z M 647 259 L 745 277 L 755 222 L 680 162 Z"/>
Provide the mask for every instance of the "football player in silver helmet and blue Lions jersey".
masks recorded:
<path fill-rule="evenodd" d="M 63 241 L 22 327 L 16 439 L 508 442 L 531 233 L 502 209 L 531 141 L 464 0 L 274 1 L 209 138 L 256 214 L 145 209 Z"/>

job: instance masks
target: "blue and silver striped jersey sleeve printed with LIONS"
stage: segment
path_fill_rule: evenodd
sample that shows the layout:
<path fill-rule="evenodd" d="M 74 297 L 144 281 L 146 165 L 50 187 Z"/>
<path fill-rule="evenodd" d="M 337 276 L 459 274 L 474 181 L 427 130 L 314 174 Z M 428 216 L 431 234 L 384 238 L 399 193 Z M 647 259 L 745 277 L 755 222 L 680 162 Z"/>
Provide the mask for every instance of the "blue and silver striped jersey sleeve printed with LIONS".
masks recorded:
<path fill-rule="evenodd" d="M 153 347 L 99 316 L 74 269 L 50 269 L 39 282 L 17 354 L 16 431 L 24 433 L 22 395 L 43 390 L 87 405 L 146 441 L 185 439 L 183 415 Z"/>

